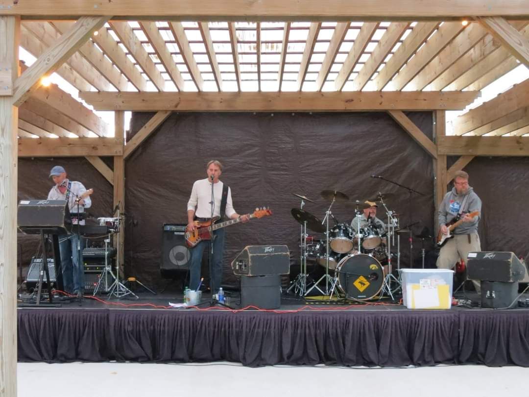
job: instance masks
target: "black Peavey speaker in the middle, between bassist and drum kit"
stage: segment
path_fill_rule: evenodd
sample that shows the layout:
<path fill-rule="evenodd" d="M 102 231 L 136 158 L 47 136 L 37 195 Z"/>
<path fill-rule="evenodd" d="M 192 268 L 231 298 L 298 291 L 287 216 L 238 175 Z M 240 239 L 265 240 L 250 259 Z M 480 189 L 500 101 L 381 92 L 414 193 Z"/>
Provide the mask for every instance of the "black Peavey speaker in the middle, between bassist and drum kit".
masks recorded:
<path fill-rule="evenodd" d="M 246 246 L 231 265 L 238 276 L 289 274 L 290 252 L 287 246 Z"/>

